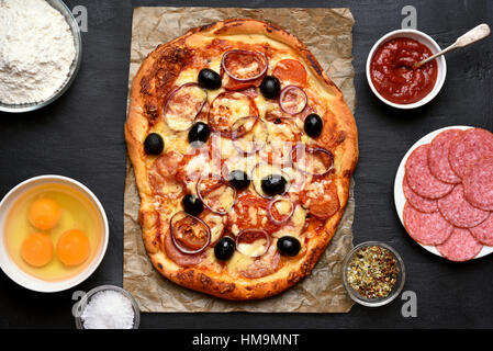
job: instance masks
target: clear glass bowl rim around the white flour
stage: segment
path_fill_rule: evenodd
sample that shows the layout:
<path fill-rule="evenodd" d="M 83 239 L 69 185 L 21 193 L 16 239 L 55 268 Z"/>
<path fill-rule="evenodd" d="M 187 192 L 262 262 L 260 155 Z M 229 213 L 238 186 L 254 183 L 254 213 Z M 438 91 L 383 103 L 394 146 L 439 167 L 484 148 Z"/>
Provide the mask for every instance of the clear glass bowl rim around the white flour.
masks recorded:
<path fill-rule="evenodd" d="M 68 88 L 72 84 L 74 80 L 77 77 L 77 73 L 80 68 L 80 64 L 82 61 L 82 37 L 80 35 L 79 24 L 77 23 L 76 19 L 74 18 L 74 14 L 71 13 L 70 9 L 67 8 L 67 5 L 61 0 L 46 0 L 46 2 L 49 3 L 52 8 L 59 11 L 63 16 L 65 18 L 65 21 L 67 21 L 68 26 L 70 27 L 71 34 L 74 36 L 74 46 L 76 48 L 76 57 L 74 61 L 71 63 L 69 73 L 67 76 L 67 79 L 65 82 L 57 89 L 57 91 L 47 100 L 41 101 L 41 102 L 33 102 L 33 103 L 22 103 L 22 104 L 7 104 L 0 102 L 0 111 L 2 112 L 10 112 L 10 113 L 22 113 L 22 112 L 30 112 L 34 110 L 42 109 L 55 100 L 57 100 L 59 97 L 61 97 Z"/>

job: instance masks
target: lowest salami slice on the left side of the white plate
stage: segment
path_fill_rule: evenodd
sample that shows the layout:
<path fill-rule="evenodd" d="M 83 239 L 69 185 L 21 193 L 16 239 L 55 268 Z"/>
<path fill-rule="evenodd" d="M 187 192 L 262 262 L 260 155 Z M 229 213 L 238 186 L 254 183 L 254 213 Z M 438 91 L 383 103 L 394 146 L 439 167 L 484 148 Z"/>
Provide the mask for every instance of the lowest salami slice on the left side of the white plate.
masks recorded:
<path fill-rule="evenodd" d="M 439 245 L 448 239 L 453 226 L 439 212 L 423 213 L 404 205 L 404 226 L 410 236 L 423 245 Z"/>

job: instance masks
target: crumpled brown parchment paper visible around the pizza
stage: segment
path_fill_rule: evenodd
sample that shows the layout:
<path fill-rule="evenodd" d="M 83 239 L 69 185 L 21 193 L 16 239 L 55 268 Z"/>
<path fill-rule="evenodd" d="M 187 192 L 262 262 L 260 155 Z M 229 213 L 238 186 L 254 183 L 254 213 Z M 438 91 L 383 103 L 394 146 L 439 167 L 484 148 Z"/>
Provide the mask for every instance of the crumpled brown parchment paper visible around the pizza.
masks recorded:
<path fill-rule="evenodd" d="M 132 26 L 128 89 L 142 61 L 158 44 L 189 29 L 229 18 L 258 19 L 284 27 L 305 43 L 355 109 L 352 14 L 349 9 L 136 8 Z M 352 301 L 341 281 L 341 264 L 352 248 L 354 183 L 337 233 L 312 274 L 287 292 L 262 301 L 228 302 L 178 286 L 152 265 L 138 224 L 139 197 L 127 162 L 124 196 L 123 287 L 142 312 L 347 313 Z"/>

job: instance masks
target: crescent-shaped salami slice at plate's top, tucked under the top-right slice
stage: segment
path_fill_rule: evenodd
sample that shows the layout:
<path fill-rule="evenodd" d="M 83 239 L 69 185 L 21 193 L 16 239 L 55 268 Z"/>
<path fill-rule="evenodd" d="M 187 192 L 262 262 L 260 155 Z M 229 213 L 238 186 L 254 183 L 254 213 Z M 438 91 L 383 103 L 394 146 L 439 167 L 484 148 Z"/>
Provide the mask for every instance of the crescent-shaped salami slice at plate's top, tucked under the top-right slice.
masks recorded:
<path fill-rule="evenodd" d="M 429 170 L 433 176 L 442 182 L 451 184 L 460 183 L 460 178 L 452 170 L 448 161 L 448 152 L 450 144 L 462 134 L 463 131 L 460 129 L 448 129 L 438 134 L 430 144 L 428 149 Z"/>

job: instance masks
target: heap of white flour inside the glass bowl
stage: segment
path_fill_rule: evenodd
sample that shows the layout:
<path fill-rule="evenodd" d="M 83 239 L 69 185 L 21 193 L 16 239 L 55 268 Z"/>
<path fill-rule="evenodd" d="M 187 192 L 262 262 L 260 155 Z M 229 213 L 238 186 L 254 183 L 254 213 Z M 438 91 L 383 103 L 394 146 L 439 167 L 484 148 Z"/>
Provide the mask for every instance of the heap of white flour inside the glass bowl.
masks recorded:
<path fill-rule="evenodd" d="M 68 23 L 45 0 L 0 0 L 0 102 L 49 99 L 75 56 Z"/>

